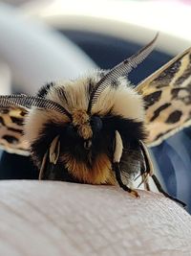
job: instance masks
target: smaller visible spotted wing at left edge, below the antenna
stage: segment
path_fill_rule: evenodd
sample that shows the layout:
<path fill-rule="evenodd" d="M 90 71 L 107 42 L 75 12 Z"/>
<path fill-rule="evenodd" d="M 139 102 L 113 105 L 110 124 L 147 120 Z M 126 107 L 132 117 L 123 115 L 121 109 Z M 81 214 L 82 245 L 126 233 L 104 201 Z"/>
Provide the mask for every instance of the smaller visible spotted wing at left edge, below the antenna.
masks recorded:
<path fill-rule="evenodd" d="M 0 149 L 29 155 L 29 145 L 23 137 L 23 123 L 27 110 L 21 107 L 0 108 Z"/>

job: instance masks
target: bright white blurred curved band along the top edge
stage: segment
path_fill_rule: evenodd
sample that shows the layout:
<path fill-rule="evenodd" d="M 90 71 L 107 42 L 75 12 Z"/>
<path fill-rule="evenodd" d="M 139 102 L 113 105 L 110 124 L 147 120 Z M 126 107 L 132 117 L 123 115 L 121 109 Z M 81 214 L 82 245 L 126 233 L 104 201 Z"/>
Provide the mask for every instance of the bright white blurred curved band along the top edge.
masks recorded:
<path fill-rule="evenodd" d="M 23 6 L 59 29 L 114 35 L 139 44 L 159 32 L 157 48 L 177 55 L 191 45 L 191 6 L 175 1 L 49 0 Z"/>

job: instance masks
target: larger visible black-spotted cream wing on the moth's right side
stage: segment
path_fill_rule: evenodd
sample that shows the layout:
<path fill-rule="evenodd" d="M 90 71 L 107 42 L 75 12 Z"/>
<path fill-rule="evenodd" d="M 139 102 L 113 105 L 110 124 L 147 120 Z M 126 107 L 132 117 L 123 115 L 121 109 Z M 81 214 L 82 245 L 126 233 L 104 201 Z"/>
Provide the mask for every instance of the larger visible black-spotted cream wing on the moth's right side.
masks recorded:
<path fill-rule="evenodd" d="M 191 125 L 191 48 L 170 60 L 136 88 L 146 111 L 147 145 L 159 145 Z"/>

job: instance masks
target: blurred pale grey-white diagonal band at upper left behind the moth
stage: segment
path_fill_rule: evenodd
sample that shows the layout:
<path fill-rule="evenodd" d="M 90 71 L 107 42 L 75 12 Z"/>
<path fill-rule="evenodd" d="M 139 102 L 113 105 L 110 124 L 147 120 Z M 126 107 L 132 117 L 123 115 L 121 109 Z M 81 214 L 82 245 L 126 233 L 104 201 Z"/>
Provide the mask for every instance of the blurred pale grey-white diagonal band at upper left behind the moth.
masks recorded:
<path fill-rule="evenodd" d="M 96 64 L 63 35 L 0 4 L 0 58 L 17 90 L 33 94 L 47 81 L 73 79 Z"/>

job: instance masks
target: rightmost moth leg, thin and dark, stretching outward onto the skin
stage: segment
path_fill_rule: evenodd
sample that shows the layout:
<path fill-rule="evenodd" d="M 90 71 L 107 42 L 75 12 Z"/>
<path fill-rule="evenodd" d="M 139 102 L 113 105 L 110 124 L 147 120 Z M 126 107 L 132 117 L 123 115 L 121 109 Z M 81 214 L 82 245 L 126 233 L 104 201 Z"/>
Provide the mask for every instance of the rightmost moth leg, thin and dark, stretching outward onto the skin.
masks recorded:
<path fill-rule="evenodd" d="M 147 170 L 146 173 L 149 174 L 152 177 L 152 179 L 153 179 L 156 187 L 158 188 L 159 192 L 162 193 L 166 198 L 171 198 L 172 200 L 179 202 L 183 207 L 185 207 L 186 204 L 184 202 L 180 201 L 178 198 L 174 198 L 174 197 L 170 196 L 167 192 L 165 192 L 162 189 L 161 184 L 159 183 L 159 179 L 157 178 L 156 175 L 154 175 L 154 168 L 153 168 L 153 164 L 152 164 L 149 152 L 146 149 L 146 147 L 145 147 L 145 145 L 143 144 L 142 141 L 140 141 L 140 149 L 141 149 L 141 151 L 143 153 L 143 156 L 144 156 L 146 170 Z"/>

